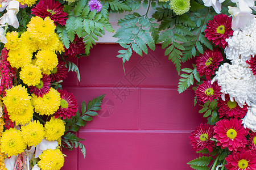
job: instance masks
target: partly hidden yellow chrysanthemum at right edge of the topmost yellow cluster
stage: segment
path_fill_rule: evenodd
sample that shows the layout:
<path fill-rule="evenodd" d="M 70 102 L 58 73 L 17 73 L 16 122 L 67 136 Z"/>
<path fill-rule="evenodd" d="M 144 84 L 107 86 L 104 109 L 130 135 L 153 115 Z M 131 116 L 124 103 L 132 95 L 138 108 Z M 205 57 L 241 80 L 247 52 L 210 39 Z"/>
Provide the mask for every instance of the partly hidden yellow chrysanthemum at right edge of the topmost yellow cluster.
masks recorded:
<path fill-rule="evenodd" d="M 59 53 L 64 52 L 64 46 L 57 33 L 54 33 L 51 39 L 49 39 L 46 43 L 40 43 L 39 48 L 42 50 L 51 50 Z"/>

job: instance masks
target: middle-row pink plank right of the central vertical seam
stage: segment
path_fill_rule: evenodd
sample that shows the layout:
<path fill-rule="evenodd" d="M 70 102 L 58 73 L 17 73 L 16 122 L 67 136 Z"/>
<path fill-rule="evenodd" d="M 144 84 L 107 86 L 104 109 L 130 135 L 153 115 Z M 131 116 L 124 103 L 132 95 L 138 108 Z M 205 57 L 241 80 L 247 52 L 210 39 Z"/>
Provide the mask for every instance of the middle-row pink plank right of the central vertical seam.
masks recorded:
<path fill-rule="evenodd" d="M 192 130 L 205 122 L 193 106 L 194 91 L 176 89 L 141 90 L 141 129 Z"/>

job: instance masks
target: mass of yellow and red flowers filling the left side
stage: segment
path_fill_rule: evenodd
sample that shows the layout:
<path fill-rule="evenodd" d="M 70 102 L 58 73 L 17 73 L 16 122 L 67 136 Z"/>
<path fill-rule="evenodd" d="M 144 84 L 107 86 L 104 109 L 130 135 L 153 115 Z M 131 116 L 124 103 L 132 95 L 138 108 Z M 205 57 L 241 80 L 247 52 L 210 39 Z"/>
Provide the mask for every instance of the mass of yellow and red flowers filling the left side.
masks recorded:
<path fill-rule="evenodd" d="M 63 148 L 79 147 L 85 156 L 84 139 L 75 132 L 97 115 L 104 95 L 83 101 L 80 113 L 75 96 L 62 89 L 68 71 L 80 80 L 78 67 L 66 59 L 85 54 L 85 44 L 78 34 L 63 45 L 56 27 L 68 14 L 59 1 L 1 5 L 0 169 L 60 169 Z M 98 1 L 84 6 L 84 15 L 102 8 Z"/>

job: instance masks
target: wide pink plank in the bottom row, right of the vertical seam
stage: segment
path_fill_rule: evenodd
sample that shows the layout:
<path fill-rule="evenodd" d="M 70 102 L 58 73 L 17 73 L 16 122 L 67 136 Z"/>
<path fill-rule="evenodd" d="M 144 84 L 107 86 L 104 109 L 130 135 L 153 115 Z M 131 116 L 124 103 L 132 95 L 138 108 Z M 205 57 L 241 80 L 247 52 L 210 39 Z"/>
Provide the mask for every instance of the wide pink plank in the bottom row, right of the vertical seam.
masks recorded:
<path fill-rule="evenodd" d="M 135 131 L 80 131 L 86 158 L 79 153 L 79 169 L 170 170 L 191 169 L 186 163 L 198 156 L 189 145 L 189 133 Z"/>

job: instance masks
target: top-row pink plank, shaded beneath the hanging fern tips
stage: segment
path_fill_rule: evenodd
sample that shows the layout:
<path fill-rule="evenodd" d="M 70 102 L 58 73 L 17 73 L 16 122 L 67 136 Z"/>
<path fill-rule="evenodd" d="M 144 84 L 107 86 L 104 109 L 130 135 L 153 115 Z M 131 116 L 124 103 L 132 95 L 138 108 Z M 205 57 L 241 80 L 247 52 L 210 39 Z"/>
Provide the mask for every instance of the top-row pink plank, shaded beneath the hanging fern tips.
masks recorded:
<path fill-rule="evenodd" d="M 115 57 L 119 49 L 122 48 L 118 44 L 98 44 L 89 57 L 79 59 L 80 86 L 115 86 L 123 80 L 130 87 L 177 87 L 180 77 L 160 45 L 143 57 L 134 53 L 125 63 L 126 75 L 122 59 Z M 191 67 L 191 63 L 184 66 Z"/>

